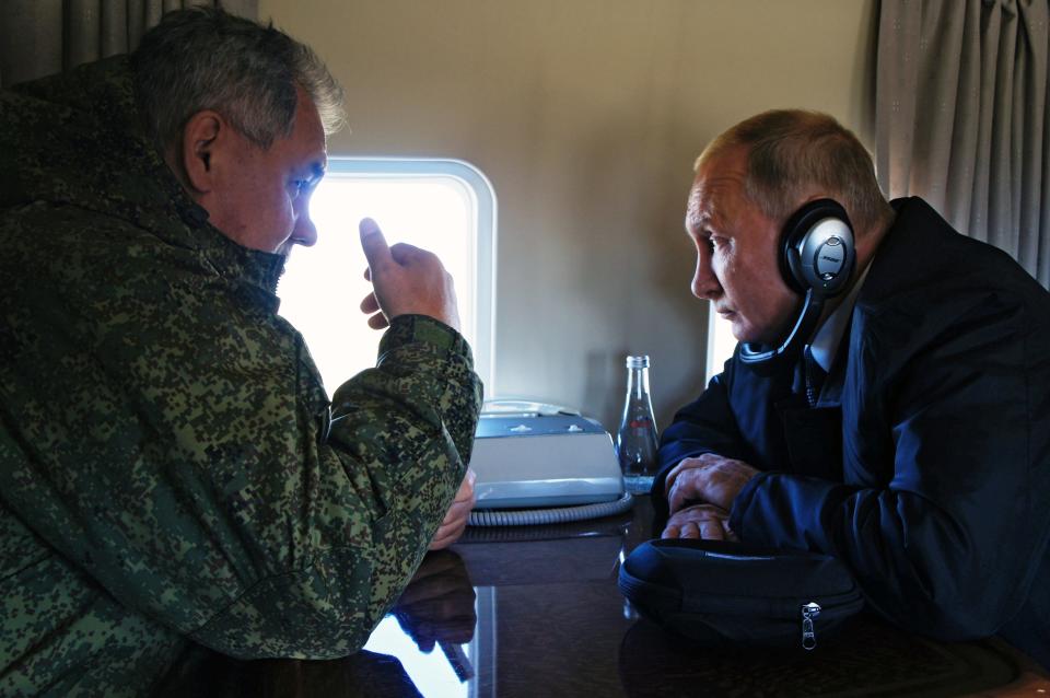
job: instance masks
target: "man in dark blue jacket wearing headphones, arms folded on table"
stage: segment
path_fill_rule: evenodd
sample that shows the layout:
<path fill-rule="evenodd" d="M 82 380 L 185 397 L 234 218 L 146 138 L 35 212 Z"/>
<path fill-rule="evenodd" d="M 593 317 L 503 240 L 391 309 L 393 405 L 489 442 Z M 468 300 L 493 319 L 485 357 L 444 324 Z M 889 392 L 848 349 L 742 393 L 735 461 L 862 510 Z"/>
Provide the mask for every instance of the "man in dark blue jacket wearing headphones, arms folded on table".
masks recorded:
<path fill-rule="evenodd" d="M 767 112 L 700 155 L 692 292 L 739 340 L 675 416 L 663 537 L 807 549 L 870 606 L 1050 666 L 1050 293 L 833 118 Z"/>

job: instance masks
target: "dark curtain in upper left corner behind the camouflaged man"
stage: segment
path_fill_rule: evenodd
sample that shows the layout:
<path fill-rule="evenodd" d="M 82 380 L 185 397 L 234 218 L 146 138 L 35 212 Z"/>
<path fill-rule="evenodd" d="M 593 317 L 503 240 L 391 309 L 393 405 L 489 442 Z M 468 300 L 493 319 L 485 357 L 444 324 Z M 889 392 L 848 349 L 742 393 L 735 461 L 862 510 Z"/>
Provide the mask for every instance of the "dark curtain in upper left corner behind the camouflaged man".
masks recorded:
<path fill-rule="evenodd" d="M 258 0 L 2 0 L 0 86 L 135 50 L 162 14 L 198 4 L 258 13 Z"/>

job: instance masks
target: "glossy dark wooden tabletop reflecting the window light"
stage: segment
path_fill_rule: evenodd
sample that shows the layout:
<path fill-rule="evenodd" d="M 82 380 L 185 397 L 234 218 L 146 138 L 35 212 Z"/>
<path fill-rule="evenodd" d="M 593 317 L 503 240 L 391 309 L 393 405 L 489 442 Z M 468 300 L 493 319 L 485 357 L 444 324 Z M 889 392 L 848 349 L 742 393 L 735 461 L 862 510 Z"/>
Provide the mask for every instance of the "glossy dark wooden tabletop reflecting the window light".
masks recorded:
<path fill-rule="evenodd" d="M 168 695 L 1050 696 L 1050 676 L 998 639 L 940 643 L 874 617 L 813 652 L 690 645 L 625 602 L 619 561 L 652 509 L 593 522 L 469 528 L 429 554 L 362 652 L 238 662 L 197 653 Z"/>

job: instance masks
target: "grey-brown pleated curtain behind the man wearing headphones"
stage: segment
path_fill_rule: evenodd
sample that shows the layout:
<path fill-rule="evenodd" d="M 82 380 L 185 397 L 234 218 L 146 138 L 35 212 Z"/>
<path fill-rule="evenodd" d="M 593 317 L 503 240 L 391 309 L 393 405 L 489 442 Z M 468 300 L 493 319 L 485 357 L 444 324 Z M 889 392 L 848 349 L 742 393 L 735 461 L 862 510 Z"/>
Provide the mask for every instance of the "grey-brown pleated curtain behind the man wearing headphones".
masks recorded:
<path fill-rule="evenodd" d="M 876 161 L 1050 288 L 1050 0 L 882 0 Z"/>

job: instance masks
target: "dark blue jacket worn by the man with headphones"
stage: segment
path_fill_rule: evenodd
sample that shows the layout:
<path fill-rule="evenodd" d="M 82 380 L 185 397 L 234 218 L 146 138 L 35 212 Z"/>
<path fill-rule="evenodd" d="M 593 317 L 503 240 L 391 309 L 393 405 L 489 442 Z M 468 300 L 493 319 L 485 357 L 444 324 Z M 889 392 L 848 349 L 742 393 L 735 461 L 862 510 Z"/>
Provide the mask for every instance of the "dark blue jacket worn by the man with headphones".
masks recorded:
<path fill-rule="evenodd" d="M 1050 666 L 1050 293 L 924 201 L 894 205 L 817 408 L 796 367 L 734 356 L 664 431 L 662 472 L 749 463 L 742 539 L 838 556 L 899 626 L 1001 632 Z M 653 495 L 666 512 L 663 476 Z"/>

